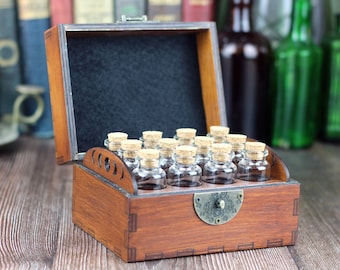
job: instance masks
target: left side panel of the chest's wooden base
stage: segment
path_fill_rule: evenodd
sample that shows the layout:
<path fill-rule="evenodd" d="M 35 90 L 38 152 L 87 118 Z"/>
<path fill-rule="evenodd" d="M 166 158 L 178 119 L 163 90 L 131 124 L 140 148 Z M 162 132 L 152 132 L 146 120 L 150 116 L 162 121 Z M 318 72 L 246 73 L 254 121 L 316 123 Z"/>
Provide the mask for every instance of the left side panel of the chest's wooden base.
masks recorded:
<path fill-rule="evenodd" d="M 73 175 L 73 223 L 127 260 L 128 199 L 79 165 Z"/>

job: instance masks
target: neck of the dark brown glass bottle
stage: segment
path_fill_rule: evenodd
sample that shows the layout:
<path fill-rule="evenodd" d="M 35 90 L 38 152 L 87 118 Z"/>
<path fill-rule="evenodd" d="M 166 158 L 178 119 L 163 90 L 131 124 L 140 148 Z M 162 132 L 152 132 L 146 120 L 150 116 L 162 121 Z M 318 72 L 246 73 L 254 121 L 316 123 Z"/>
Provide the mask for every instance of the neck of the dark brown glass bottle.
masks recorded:
<path fill-rule="evenodd" d="M 230 2 L 229 28 L 233 32 L 251 32 L 252 25 L 252 0 L 232 0 Z"/>

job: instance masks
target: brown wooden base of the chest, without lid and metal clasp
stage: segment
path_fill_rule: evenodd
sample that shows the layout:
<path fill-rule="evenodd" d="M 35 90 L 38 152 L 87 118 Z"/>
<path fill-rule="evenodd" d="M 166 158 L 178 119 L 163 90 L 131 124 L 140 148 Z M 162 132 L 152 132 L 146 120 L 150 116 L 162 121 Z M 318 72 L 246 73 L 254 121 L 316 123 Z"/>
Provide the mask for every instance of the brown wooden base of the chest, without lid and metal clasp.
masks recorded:
<path fill-rule="evenodd" d="M 275 158 L 273 171 L 285 172 Z M 130 174 L 125 173 L 122 181 L 104 166 L 118 161 L 110 151 L 94 148 L 87 152 L 84 165 L 74 166 L 73 221 L 125 261 L 295 244 L 300 184 L 286 182 L 286 174 L 264 183 L 137 192 Z M 198 218 L 195 192 L 226 192 L 235 185 L 243 190 L 244 201 L 232 220 L 208 225 Z"/>

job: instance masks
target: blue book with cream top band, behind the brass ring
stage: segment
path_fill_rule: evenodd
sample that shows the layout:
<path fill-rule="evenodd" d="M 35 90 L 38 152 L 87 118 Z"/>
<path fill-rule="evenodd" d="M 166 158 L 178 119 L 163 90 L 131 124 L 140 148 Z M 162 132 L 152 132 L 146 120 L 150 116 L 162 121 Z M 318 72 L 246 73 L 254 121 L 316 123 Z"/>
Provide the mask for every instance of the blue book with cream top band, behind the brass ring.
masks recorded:
<path fill-rule="evenodd" d="M 44 88 L 44 112 L 32 126 L 31 133 L 35 137 L 50 138 L 53 125 L 44 41 L 44 31 L 51 26 L 49 0 L 17 0 L 17 4 L 22 83 Z M 29 99 L 24 105 L 24 113 L 31 115 L 37 104 Z"/>

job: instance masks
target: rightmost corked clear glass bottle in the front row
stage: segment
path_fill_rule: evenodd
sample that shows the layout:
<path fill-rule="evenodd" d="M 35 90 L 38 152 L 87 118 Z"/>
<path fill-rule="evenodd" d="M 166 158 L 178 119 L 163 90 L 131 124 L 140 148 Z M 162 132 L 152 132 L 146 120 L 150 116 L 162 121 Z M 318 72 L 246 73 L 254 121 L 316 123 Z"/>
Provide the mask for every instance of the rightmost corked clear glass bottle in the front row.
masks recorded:
<path fill-rule="evenodd" d="M 270 164 L 266 160 L 267 155 L 266 144 L 246 142 L 244 159 L 238 163 L 237 178 L 252 182 L 269 180 Z"/>

